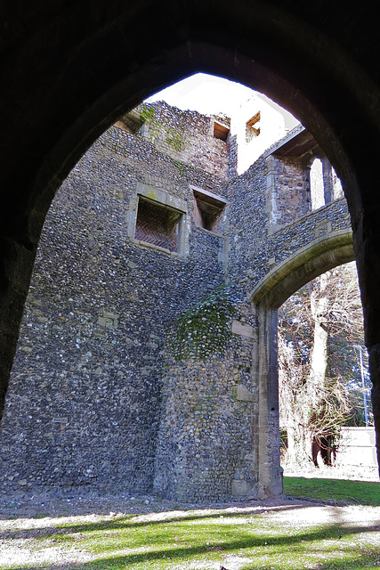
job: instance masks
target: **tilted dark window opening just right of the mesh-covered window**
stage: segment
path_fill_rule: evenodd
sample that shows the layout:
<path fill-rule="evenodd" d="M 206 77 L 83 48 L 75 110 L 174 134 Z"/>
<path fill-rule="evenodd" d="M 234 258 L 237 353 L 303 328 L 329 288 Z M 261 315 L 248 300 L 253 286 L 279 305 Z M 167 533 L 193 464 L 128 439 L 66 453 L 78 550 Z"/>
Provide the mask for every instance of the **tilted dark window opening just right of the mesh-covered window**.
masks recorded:
<path fill-rule="evenodd" d="M 221 229 L 221 215 L 226 205 L 222 196 L 210 191 L 195 189 L 194 193 L 194 223 L 196 227 L 218 233 Z"/>

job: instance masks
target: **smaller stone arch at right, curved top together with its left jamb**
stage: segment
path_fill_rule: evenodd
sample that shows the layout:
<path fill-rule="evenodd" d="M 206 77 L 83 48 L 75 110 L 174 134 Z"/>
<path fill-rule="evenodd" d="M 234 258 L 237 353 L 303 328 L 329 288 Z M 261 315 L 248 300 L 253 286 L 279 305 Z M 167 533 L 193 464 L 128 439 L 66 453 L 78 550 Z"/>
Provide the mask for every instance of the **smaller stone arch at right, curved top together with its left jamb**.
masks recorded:
<path fill-rule="evenodd" d="M 251 292 L 256 315 L 257 339 L 253 362 L 259 386 L 259 418 L 256 441 L 259 458 L 259 493 L 278 494 L 279 468 L 279 371 L 277 310 L 288 297 L 321 273 L 354 259 L 351 232 L 315 240 L 268 273 Z"/>

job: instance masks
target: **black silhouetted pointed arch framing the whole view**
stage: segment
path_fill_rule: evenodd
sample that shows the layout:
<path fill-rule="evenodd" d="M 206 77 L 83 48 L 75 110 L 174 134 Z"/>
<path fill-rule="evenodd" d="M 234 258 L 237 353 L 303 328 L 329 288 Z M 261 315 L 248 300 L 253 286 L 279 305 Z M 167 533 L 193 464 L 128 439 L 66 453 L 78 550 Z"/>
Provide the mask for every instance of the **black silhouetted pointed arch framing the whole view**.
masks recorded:
<path fill-rule="evenodd" d="M 326 14 L 328 13 L 328 18 Z M 53 195 L 123 111 L 196 71 L 240 81 L 300 118 L 352 215 L 380 442 L 379 9 L 364 0 L 2 6 L 0 380 L 4 397 L 39 233 Z"/>

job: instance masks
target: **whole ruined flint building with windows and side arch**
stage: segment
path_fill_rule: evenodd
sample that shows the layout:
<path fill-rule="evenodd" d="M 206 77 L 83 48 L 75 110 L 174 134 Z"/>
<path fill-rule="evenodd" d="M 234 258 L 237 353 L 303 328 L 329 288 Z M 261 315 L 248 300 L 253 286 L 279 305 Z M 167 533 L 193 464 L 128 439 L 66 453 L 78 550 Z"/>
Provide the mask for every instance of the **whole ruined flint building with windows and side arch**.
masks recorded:
<path fill-rule="evenodd" d="M 259 111 L 244 129 L 261 136 Z M 5 403 L 0 488 L 281 493 L 276 309 L 353 259 L 352 230 L 303 126 L 240 175 L 238 151 L 230 119 L 155 103 L 61 185 Z"/>

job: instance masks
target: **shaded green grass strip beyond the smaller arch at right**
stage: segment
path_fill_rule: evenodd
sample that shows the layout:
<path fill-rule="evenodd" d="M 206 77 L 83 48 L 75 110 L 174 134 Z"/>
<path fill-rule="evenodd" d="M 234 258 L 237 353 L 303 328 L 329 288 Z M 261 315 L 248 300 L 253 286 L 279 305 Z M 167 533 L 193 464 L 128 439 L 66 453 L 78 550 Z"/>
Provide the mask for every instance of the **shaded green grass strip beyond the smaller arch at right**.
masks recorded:
<path fill-rule="evenodd" d="M 341 505 L 380 506 L 380 484 L 344 479 L 284 477 L 284 494 Z"/>

